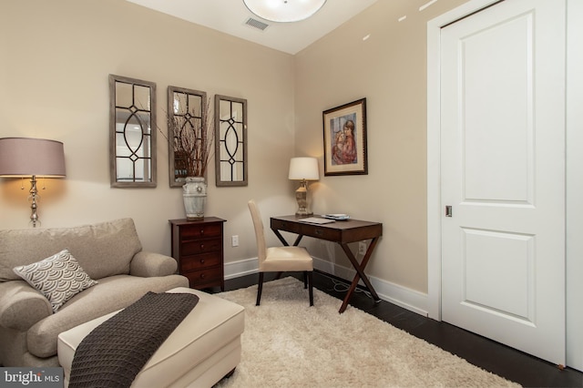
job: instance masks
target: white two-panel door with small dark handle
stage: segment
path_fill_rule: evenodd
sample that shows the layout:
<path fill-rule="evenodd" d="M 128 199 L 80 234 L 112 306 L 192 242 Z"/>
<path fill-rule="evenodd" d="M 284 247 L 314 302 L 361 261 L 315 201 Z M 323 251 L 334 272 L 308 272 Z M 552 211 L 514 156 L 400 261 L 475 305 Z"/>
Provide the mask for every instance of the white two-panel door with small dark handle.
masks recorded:
<path fill-rule="evenodd" d="M 442 29 L 442 316 L 565 363 L 565 2 Z"/>

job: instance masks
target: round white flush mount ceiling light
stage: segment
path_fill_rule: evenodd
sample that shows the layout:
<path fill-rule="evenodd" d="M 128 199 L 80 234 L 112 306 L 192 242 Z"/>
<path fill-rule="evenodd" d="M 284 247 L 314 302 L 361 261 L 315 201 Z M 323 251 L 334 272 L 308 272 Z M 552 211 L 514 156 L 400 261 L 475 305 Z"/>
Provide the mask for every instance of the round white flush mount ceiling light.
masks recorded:
<path fill-rule="evenodd" d="M 314 15 L 326 0 L 243 0 L 255 15 L 271 22 L 299 22 Z"/>

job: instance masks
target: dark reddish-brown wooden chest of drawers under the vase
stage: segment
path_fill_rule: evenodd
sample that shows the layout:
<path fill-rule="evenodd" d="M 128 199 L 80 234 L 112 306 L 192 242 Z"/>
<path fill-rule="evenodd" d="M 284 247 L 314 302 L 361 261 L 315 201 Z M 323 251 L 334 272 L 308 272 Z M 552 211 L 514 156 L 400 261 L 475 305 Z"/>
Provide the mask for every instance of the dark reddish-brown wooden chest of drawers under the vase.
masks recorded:
<path fill-rule="evenodd" d="M 179 263 L 179 274 L 189 278 L 190 288 L 220 286 L 225 291 L 222 224 L 226 220 L 169 220 L 172 257 Z"/>

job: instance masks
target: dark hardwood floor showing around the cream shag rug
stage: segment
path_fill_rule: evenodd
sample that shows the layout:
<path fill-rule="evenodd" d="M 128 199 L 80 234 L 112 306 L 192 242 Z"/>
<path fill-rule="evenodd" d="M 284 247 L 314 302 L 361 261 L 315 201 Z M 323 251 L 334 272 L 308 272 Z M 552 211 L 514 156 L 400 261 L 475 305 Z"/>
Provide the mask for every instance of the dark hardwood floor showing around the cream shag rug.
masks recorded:
<path fill-rule="evenodd" d="M 293 275 L 302 279 L 301 274 Z M 266 274 L 266 281 L 274 279 Z M 314 271 L 314 287 L 338 299 L 343 299 L 347 281 Z M 237 290 L 257 284 L 258 275 L 243 276 L 225 281 L 225 290 Z M 496 373 L 526 387 L 583 387 L 583 373 L 542 361 L 472 332 L 466 332 L 445 322 L 436 322 L 387 301 L 374 303 L 365 292 L 355 292 L 350 301 L 353 307 L 409 332 L 427 342 L 458 355 L 486 371 Z M 339 304 L 340 305 L 340 304 Z"/>

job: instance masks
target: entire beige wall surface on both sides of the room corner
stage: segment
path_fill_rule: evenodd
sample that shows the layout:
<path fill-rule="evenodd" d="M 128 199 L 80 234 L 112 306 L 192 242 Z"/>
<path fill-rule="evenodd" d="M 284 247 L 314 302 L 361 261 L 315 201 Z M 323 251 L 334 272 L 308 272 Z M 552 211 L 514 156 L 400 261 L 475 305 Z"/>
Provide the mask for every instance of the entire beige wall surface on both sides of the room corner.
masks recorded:
<path fill-rule="evenodd" d="M 420 12 L 424 0 L 381 0 L 296 56 L 121 0 L 3 2 L 0 137 L 65 144 L 66 179 L 46 179 L 41 191 L 43 227 L 132 217 L 144 248 L 168 254 L 168 220 L 184 210 L 180 189 L 169 189 L 165 143 L 159 140 L 158 188 L 109 187 L 107 75 L 156 82 L 159 117 L 169 85 L 247 98 L 249 186 L 217 188 L 210 168 L 207 214 L 228 220 L 226 261 L 234 262 L 256 257 L 247 200 L 260 202 L 265 220 L 292 213 L 289 158 L 316 156 L 322 171 L 322 110 L 366 97 L 369 174 L 322 176 L 311 186 L 312 209 L 382 221 L 368 272 L 426 292 L 426 22 L 464 2 L 442 0 Z M 28 227 L 22 184 L 0 180 L 2 229 Z M 233 234 L 239 248 L 230 247 Z M 332 244 L 304 242 L 350 267 Z"/>

